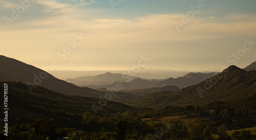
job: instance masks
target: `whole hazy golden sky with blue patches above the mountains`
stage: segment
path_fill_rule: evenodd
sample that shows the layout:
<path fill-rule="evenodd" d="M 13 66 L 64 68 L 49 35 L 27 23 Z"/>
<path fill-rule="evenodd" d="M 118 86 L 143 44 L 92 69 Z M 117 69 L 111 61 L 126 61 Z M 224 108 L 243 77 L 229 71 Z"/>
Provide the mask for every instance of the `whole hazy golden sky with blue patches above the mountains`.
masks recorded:
<path fill-rule="evenodd" d="M 0 0 L 0 54 L 44 70 L 244 68 L 256 61 L 255 6 L 254 0 Z"/>

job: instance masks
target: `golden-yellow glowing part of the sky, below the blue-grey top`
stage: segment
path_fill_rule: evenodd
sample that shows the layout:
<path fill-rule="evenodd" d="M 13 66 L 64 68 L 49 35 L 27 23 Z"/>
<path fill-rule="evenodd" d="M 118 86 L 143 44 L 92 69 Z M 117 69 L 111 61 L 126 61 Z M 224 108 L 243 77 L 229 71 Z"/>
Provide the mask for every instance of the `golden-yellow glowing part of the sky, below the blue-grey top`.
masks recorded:
<path fill-rule="evenodd" d="M 226 61 L 228 55 L 237 52 L 244 39 L 255 37 L 256 33 L 254 15 L 196 16 L 178 33 L 174 22 L 180 21 L 182 14 L 109 19 L 91 16 L 94 10 L 62 8 L 65 5 L 57 2 L 38 4 L 46 7 L 45 12 L 57 8 L 57 16 L 28 21 L 20 17 L 21 21 L 9 28 L 2 23 L 1 54 L 37 67 L 56 60 L 59 70 L 125 70 L 136 65 L 139 55 L 144 54 L 152 58 L 148 68 L 218 70 L 222 65 L 231 65 Z M 87 39 L 61 61 L 58 51 L 80 33 Z M 255 49 L 246 52 L 238 65 L 255 61 L 255 53 Z"/>

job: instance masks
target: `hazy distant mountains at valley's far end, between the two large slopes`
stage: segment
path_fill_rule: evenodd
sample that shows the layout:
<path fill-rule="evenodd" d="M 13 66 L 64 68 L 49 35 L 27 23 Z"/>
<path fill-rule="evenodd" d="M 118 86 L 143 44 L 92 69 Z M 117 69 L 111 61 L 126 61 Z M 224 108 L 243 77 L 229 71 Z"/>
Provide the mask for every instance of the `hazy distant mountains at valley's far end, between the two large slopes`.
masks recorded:
<path fill-rule="evenodd" d="M 82 87 L 89 87 L 92 89 L 99 89 L 99 88 L 108 88 L 111 89 L 116 86 L 118 82 L 121 82 L 123 88 L 120 90 L 137 90 L 137 89 L 150 89 L 150 88 L 156 88 L 156 87 L 165 87 L 165 86 L 176 86 L 180 89 L 195 85 L 207 78 L 210 78 L 212 76 L 215 76 L 218 74 L 218 72 L 211 72 L 211 73 L 188 73 L 183 77 L 178 78 L 168 78 L 166 80 L 146 80 L 136 77 L 129 77 L 127 75 L 122 75 L 118 73 L 110 73 L 107 72 L 105 74 L 100 74 L 97 76 L 87 76 L 87 77 L 78 77 L 73 79 L 67 79 L 67 82 L 71 82 L 74 84 L 79 83 L 78 86 L 82 85 L 81 83 L 86 83 L 87 80 L 88 83 L 95 83 L 95 85 L 83 85 Z M 129 77 L 129 78 L 127 78 Z M 111 82 L 115 79 L 115 82 L 109 85 L 101 83 Z M 125 80 L 131 80 L 131 81 L 125 81 Z"/>

